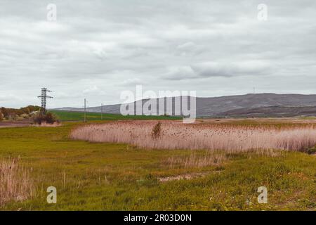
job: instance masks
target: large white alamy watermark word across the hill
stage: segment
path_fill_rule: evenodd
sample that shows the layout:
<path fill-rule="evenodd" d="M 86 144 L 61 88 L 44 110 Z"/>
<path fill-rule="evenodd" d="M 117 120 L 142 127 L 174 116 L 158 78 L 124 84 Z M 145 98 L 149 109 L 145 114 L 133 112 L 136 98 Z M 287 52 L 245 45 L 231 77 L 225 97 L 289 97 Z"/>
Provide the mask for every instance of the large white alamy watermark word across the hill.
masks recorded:
<path fill-rule="evenodd" d="M 145 91 L 136 86 L 133 91 L 122 91 L 121 115 L 183 116 L 184 123 L 195 122 L 197 116 L 196 91 Z"/>

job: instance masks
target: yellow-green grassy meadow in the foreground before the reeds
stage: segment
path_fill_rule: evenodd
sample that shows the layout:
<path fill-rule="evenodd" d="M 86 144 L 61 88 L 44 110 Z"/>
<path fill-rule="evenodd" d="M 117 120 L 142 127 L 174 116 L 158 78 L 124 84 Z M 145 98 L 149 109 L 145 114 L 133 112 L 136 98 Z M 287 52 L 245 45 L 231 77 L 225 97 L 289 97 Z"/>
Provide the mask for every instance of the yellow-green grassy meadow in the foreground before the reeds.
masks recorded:
<path fill-rule="evenodd" d="M 20 158 L 35 187 L 32 198 L 0 210 L 316 210 L 315 155 L 235 154 L 223 165 L 170 167 L 169 158 L 192 151 L 72 141 L 81 124 L 0 129 L 0 160 Z M 57 188 L 57 204 L 46 202 L 48 186 Z M 268 204 L 257 203 L 259 186 L 268 188 Z"/>

